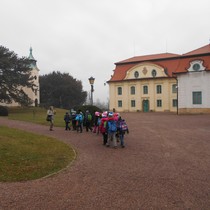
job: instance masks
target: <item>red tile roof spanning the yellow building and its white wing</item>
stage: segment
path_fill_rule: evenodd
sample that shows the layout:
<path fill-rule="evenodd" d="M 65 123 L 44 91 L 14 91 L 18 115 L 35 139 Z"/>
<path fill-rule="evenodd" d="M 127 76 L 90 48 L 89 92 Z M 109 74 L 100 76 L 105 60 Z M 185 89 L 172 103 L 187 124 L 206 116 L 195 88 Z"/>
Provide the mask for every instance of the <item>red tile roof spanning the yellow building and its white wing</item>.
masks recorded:
<path fill-rule="evenodd" d="M 198 55 L 198 56 L 196 56 Z M 196 56 L 196 58 L 195 58 Z M 144 56 L 135 56 L 115 63 L 116 68 L 109 82 L 121 81 L 125 78 L 126 72 L 137 64 L 148 62 L 162 66 L 167 69 L 168 76 L 172 77 L 173 73 L 185 73 L 189 68 L 192 60 L 203 60 L 206 70 L 210 70 L 210 45 L 198 48 L 183 55 L 162 53 Z"/>

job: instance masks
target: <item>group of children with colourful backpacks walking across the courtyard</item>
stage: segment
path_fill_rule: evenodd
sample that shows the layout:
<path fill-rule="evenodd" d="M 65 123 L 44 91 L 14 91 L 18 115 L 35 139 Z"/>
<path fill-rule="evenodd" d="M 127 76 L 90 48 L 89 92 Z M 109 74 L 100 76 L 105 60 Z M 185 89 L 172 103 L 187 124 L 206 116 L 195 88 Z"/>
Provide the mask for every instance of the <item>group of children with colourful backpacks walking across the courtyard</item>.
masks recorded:
<path fill-rule="evenodd" d="M 72 111 L 64 115 L 65 130 L 72 129 L 82 133 L 83 127 L 86 132 L 101 133 L 103 137 L 103 145 L 117 148 L 117 143 L 120 142 L 122 148 L 125 147 L 124 135 L 129 133 L 128 126 L 119 113 L 105 111 L 103 113 L 95 112 L 94 116 L 87 110 L 85 114 L 81 111 L 77 113 Z"/>

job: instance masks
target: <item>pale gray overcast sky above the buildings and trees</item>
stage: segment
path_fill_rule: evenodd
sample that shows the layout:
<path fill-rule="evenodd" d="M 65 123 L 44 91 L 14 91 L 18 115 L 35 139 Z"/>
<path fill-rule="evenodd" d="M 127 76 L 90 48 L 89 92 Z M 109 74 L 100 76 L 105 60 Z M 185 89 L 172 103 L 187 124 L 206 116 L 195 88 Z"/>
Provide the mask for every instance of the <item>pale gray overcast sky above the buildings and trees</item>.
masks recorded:
<path fill-rule="evenodd" d="M 40 75 L 68 72 L 106 101 L 114 63 L 183 54 L 209 44 L 210 0 L 0 0 L 1 45 L 20 57 L 32 46 Z"/>

